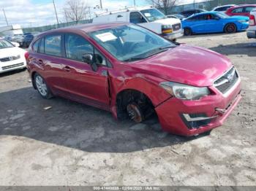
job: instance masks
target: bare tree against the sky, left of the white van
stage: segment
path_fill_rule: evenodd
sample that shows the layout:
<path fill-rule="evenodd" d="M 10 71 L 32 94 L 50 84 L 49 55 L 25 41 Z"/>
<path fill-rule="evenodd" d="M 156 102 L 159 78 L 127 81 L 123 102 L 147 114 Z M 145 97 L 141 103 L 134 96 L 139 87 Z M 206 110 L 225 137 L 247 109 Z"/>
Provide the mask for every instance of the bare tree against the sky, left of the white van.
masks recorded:
<path fill-rule="evenodd" d="M 83 0 L 67 0 L 64 13 L 67 20 L 72 20 L 78 23 L 79 20 L 83 20 L 88 12 L 88 7 Z"/>

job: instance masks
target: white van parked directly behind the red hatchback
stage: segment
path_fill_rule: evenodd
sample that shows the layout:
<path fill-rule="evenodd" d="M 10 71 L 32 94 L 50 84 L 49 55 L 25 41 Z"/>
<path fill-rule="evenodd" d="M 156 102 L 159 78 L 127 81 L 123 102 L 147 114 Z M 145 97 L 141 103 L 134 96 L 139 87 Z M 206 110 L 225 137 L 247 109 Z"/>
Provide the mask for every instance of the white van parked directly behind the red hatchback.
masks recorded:
<path fill-rule="evenodd" d="M 96 15 L 97 17 L 94 17 L 92 23 L 117 21 L 134 23 L 173 41 L 184 35 L 181 20 L 167 18 L 158 9 L 152 7 L 129 7 L 113 12 L 102 12 Z"/>

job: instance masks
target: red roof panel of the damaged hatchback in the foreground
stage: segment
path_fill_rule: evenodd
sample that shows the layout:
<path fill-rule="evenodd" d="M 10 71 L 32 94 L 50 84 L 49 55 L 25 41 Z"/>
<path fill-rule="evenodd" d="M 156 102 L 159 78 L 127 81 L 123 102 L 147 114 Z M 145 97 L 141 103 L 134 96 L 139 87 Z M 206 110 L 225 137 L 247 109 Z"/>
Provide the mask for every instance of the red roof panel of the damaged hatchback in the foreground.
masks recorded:
<path fill-rule="evenodd" d="M 90 33 L 93 31 L 99 31 L 105 28 L 113 28 L 117 26 L 124 26 L 130 23 L 124 23 L 124 22 L 115 22 L 115 23 L 87 23 L 87 24 L 80 24 L 77 26 L 69 26 L 64 28 L 58 28 L 50 31 L 46 31 L 45 33 L 39 34 L 39 36 L 43 36 L 45 34 L 51 34 L 51 33 L 58 33 L 58 32 L 72 32 L 72 31 L 84 31 L 86 33 Z"/>

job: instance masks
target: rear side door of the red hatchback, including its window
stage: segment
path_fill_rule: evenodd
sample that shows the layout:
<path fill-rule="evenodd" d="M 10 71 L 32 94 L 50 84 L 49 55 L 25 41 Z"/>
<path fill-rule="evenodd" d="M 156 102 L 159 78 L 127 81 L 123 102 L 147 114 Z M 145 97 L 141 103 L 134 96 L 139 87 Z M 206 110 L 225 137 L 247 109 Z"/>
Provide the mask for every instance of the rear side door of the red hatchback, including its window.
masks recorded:
<path fill-rule="evenodd" d="M 40 74 L 51 90 L 55 94 L 65 96 L 67 87 L 63 82 L 64 52 L 61 48 L 62 41 L 62 34 L 50 34 L 42 37 L 39 43 L 37 63 L 42 68 Z"/>

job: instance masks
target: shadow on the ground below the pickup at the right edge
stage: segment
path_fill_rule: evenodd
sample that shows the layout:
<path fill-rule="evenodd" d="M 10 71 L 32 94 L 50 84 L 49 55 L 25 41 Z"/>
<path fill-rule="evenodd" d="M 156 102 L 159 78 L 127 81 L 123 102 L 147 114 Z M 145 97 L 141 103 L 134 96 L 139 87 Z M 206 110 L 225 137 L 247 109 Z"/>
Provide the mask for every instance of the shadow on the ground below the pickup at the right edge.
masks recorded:
<path fill-rule="evenodd" d="M 256 42 L 237 43 L 228 45 L 219 44 L 219 46 L 211 47 L 209 49 L 215 52 L 219 52 L 222 55 L 248 55 L 252 57 L 256 56 Z"/>

